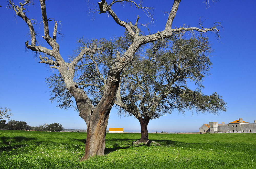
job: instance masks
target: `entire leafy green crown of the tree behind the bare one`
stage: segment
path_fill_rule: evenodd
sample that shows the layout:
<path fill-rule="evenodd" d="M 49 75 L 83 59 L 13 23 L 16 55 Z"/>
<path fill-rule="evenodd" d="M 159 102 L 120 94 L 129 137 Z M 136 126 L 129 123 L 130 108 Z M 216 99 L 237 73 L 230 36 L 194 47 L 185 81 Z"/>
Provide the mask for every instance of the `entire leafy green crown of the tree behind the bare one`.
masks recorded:
<path fill-rule="evenodd" d="M 74 81 L 87 92 L 90 101 L 96 106 L 104 93 L 104 84 L 108 70 L 131 45 L 132 39 L 125 32 L 121 37 L 107 40 L 78 40 L 78 49 L 87 45 L 93 48 L 104 46 L 96 54 L 84 55 L 76 66 Z M 209 75 L 211 45 L 206 37 L 183 36 L 173 33 L 173 36 L 152 42 L 140 47 L 133 61 L 121 74 L 121 100 L 128 108 L 120 108 L 120 114 L 147 116 L 150 119 L 171 114 L 173 110 L 210 112 L 217 114 L 226 111 L 226 103 L 217 93 L 204 95 L 201 92 L 202 81 Z M 125 58 L 124 58 L 125 59 Z M 53 88 L 51 100 L 56 100 L 60 108 L 67 109 L 73 105 L 72 95 L 68 92 L 60 75 L 46 79 L 48 86 Z M 196 90 L 189 89 L 194 83 Z M 198 96 L 196 96 L 198 95 Z M 195 96 L 195 97 L 193 97 Z M 127 112 L 128 111 L 128 112 Z M 135 112 L 136 111 L 136 112 Z M 136 116 L 138 117 L 138 116 Z"/>

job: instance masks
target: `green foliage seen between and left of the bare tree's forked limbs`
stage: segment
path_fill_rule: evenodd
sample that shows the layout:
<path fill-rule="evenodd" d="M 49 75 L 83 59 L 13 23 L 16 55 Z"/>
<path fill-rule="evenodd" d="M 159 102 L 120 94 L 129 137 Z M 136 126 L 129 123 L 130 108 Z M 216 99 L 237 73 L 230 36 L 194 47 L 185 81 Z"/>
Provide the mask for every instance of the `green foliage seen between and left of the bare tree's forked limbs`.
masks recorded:
<path fill-rule="evenodd" d="M 76 65 L 74 81 L 78 86 L 86 91 L 86 94 L 90 98 L 90 101 L 96 106 L 100 98 L 104 93 L 104 84 L 106 76 L 114 60 L 117 57 L 116 52 L 120 52 L 120 57 L 129 48 L 132 43 L 132 39 L 129 34 L 125 33 L 121 37 L 113 37 L 112 39 L 79 39 L 78 49 L 74 51 L 73 55 L 69 56 L 70 61 L 77 56 L 81 48 L 87 45 L 88 48 L 93 48 L 94 45 L 98 47 L 104 47 L 103 50 L 97 51 L 96 54 L 84 55 L 83 58 Z M 142 48 L 138 49 L 136 54 L 140 52 Z M 98 71 L 97 71 L 98 70 Z M 49 88 L 52 89 L 50 100 L 57 101 L 58 107 L 67 109 L 69 107 L 76 108 L 73 97 L 66 89 L 63 78 L 60 74 L 50 76 L 46 78 L 46 82 Z"/>

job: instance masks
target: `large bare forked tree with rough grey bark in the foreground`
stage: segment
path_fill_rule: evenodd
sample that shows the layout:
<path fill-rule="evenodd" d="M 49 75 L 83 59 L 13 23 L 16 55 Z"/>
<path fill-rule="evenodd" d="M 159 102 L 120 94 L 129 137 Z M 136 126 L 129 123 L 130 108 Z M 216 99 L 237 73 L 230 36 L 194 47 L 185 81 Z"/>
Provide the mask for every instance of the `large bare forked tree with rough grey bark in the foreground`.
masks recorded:
<path fill-rule="evenodd" d="M 97 106 L 94 106 L 89 100 L 86 92 L 78 87 L 78 84 L 73 81 L 75 66 L 82 59 L 86 53 L 96 53 L 96 51 L 103 49 L 103 47 L 97 47 L 96 45 L 92 48 L 88 48 L 86 45 L 80 50 L 80 53 L 70 62 L 65 62 L 61 57 L 59 52 L 59 44 L 56 42 L 56 33 L 58 23 L 55 22 L 53 28 L 52 37 L 49 34 L 49 27 L 47 15 L 46 15 L 46 4 L 45 0 L 39 0 L 41 5 L 41 16 L 44 28 L 44 40 L 51 46 L 52 49 L 43 47 L 37 44 L 36 33 L 34 30 L 34 24 L 32 20 L 27 17 L 25 13 L 26 6 L 31 4 L 31 0 L 25 0 L 18 5 L 15 5 L 12 0 L 9 0 L 9 7 L 16 12 L 16 15 L 22 18 L 25 23 L 28 25 L 31 35 L 31 44 L 29 41 L 25 42 L 26 48 L 31 51 L 35 51 L 39 54 L 40 63 L 49 64 L 50 68 L 55 68 L 61 74 L 61 77 L 64 80 L 65 87 L 74 97 L 76 101 L 77 108 L 79 110 L 79 115 L 87 124 L 87 138 L 85 145 L 85 154 L 81 160 L 90 158 L 93 155 L 104 155 L 105 149 L 105 133 L 106 126 L 108 124 L 109 113 L 111 107 L 113 106 L 116 98 L 116 91 L 119 87 L 120 74 L 123 68 L 131 62 L 133 59 L 134 53 L 137 49 L 147 43 L 168 38 L 172 35 L 173 32 L 182 32 L 182 31 L 198 31 L 205 33 L 207 31 L 212 31 L 218 33 L 216 25 L 211 28 L 197 28 L 197 27 L 180 27 L 172 29 L 172 22 L 176 16 L 178 6 L 181 0 L 174 0 L 174 4 L 169 13 L 165 29 L 163 31 L 157 32 L 155 34 L 142 36 L 140 30 L 138 29 L 138 20 L 139 16 L 135 18 L 135 24 L 132 22 L 122 21 L 118 18 L 115 12 L 111 9 L 112 5 L 117 3 L 128 2 L 134 4 L 137 8 L 146 11 L 146 8 L 142 7 L 140 4 L 136 4 L 134 1 L 130 0 L 114 0 L 108 4 L 105 0 L 99 2 L 100 13 L 108 12 L 109 15 L 114 19 L 114 21 L 120 26 L 124 27 L 129 35 L 132 37 L 132 43 L 129 48 L 124 52 L 123 56 L 120 57 L 117 54 L 116 59 L 112 62 L 112 65 L 109 69 L 106 80 L 104 81 L 104 92 L 103 96 L 100 98 Z M 147 12 L 147 11 L 146 11 Z M 43 53 L 43 56 L 41 55 Z"/>

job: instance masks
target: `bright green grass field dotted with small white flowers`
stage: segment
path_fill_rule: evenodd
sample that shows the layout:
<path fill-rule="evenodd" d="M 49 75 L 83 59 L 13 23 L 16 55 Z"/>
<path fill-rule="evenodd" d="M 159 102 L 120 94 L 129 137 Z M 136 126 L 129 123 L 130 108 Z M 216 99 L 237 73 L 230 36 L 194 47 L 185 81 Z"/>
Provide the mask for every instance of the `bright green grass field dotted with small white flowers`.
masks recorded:
<path fill-rule="evenodd" d="M 0 130 L 0 168 L 256 168 L 256 134 L 106 134 L 104 156 L 79 162 L 86 133 Z"/>

